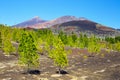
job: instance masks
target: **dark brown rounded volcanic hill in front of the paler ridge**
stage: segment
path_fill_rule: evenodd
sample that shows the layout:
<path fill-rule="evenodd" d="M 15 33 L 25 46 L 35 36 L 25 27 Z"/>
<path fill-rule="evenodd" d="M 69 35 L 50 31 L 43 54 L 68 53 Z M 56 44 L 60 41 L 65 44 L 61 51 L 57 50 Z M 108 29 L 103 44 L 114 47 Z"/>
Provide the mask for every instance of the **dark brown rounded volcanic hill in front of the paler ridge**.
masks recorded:
<path fill-rule="evenodd" d="M 94 33 L 94 34 L 113 34 L 115 33 L 115 29 L 103 26 L 99 23 L 86 20 L 86 19 L 80 19 L 77 21 L 69 21 L 62 24 L 57 24 L 51 27 L 51 29 L 54 32 L 59 32 L 60 30 L 65 31 L 67 33 L 69 32 L 85 32 L 88 34 Z"/>

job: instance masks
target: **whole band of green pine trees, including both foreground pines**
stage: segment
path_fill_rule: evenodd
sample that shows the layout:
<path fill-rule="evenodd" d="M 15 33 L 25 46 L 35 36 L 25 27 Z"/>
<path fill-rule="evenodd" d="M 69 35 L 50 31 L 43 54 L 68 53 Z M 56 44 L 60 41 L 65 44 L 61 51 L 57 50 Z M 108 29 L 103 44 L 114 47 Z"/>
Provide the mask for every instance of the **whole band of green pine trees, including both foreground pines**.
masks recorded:
<path fill-rule="evenodd" d="M 109 52 L 112 50 L 120 52 L 119 36 L 105 37 L 104 39 L 94 35 L 87 36 L 83 33 L 79 35 L 75 33 L 66 34 L 61 31 L 54 34 L 49 29 L 26 30 L 0 25 L 0 48 L 7 54 L 17 51 L 17 48 L 11 42 L 19 44 L 19 63 L 27 66 L 27 72 L 31 68 L 39 67 L 39 53 L 52 59 L 60 73 L 63 68 L 69 65 L 68 53 L 70 51 L 66 49 L 68 47 L 69 49 L 73 47 L 87 49 L 89 54 L 94 56 L 100 54 L 101 49 Z M 84 57 L 87 57 L 87 55 L 84 55 Z"/>

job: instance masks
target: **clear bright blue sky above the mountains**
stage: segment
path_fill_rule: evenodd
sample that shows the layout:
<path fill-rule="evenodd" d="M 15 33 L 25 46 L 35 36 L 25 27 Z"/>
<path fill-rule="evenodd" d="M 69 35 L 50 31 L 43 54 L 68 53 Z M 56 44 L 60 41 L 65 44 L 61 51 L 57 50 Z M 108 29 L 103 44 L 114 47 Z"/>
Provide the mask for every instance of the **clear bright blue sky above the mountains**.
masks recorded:
<path fill-rule="evenodd" d="M 65 15 L 120 28 L 120 0 L 0 0 L 2 24 L 14 25 L 34 16 L 51 20 Z"/>

